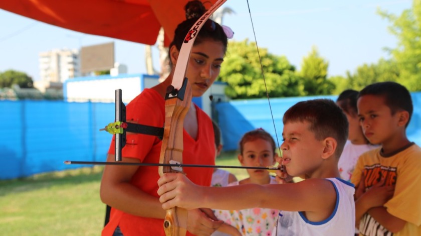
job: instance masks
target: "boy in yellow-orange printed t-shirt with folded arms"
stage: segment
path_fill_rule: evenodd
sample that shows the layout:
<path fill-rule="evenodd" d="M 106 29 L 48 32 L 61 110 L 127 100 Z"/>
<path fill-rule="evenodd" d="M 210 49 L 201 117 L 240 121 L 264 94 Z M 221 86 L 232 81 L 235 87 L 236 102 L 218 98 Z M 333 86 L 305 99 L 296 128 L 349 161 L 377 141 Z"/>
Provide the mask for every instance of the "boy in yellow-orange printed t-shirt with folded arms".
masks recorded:
<path fill-rule="evenodd" d="M 421 148 L 406 137 L 411 96 L 380 82 L 362 89 L 357 105 L 365 137 L 382 145 L 358 159 L 351 178 L 360 234 L 421 235 Z"/>

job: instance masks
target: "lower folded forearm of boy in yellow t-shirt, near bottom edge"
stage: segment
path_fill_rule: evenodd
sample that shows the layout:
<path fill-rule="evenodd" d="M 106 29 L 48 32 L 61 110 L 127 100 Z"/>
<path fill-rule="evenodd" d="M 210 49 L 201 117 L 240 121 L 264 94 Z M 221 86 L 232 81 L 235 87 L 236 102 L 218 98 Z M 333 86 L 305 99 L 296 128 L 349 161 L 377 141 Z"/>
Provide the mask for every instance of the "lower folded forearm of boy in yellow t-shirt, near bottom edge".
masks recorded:
<path fill-rule="evenodd" d="M 400 231 L 406 223 L 405 220 L 391 215 L 383 206 L 370 208 L 368 214 L 393 233 Z"/>

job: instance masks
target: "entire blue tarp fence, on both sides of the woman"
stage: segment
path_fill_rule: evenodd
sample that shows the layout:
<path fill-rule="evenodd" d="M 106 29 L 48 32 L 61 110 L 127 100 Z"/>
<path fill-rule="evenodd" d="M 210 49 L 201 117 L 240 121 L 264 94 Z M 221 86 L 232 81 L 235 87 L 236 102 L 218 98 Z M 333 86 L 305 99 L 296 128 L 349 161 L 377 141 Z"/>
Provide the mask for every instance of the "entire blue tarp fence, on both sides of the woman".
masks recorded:
<path fill-rule="evenodd" d="M 322 96 L 335 100 L 336 96 Z M 301 100 L 320 97 L 237 100 L 215 104 L 224 150 L 236 150 L 244 133 L 263 128 L 282 140 L 282 116 Z M 412 93 L 409 140 L 421 146 L 421 92 Z M 90 165 L 66 160 L 105 161 L 112 136 L 99 129 L 114 121 L 114 103 L 51 100 L 0 101 L 0 180 Z"/>

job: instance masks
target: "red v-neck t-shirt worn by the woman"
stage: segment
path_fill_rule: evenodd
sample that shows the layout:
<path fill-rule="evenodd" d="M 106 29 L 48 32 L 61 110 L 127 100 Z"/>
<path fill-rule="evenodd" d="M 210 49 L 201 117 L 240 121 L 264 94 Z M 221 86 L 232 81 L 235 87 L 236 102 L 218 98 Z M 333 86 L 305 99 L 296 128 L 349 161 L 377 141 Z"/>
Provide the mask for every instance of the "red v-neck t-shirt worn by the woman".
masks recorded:
<path fill-rule="evenodd" d="M 198 123 L 197 139 L 193 140 L 183 130 L 183 163 L 215 165 L 215 140 L 212 120 L 196 106 Z M 126 106 L 126 120 L 138 124 L 163 127 L 165 120 L 165 100 L 153 89 L 145 89 Z M 122 150 L 123 157 L 137 158 L 144 163 L 159 163 L 162 141 L 154 136 L 134 134 L 127 135 L 126 146 Z M 109 154 L 114 154 L 114 138 Z M 193 182 L 210 186 L 212 168 L 183 168 L 183 172 Z M 158 197 L 158 167 L 139 167 L 131 179 L 131 183 Z M 112 208 L 110 221 L 102 230 L 102 235 L 112 235 L 119 226 L 125 236 L 131 235 L 165 235 L 163 219 L 146 218 L 132 215 Z M 187 232 L 187 235 L 191 235 Z"/>

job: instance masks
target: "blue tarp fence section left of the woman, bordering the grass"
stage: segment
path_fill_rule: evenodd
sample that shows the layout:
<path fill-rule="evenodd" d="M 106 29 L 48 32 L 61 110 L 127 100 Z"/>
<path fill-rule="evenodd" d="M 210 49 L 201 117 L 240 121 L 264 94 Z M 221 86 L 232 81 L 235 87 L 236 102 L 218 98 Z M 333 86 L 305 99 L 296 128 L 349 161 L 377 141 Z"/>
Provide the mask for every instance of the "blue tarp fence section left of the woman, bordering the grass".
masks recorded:
<path fill-rule="evenodd" d="M 114 103 L 0 101 L 0 179 L 80 168 L 66 160 L 105 161 Z"/>

